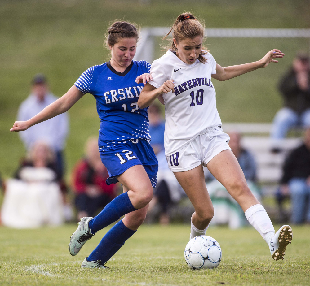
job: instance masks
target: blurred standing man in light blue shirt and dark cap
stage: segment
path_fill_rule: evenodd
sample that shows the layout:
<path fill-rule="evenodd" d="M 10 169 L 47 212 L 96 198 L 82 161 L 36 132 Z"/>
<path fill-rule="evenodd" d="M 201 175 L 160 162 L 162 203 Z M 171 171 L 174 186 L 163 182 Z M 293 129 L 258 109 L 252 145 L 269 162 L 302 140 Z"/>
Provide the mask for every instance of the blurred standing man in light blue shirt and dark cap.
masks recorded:
<path fill-rule="evenodd" d="M 31 93 L 19 108 L 17 120 L 28 120 L 57 99 L 48 89 L 46 77 L 34 76 Z M 19 132 L 27 150 L 38 140 L 47 142 L 55 152 L 57 174 L 63 176 L 63 150 L 68 135 L 68 115 L 60 114 Z"/>

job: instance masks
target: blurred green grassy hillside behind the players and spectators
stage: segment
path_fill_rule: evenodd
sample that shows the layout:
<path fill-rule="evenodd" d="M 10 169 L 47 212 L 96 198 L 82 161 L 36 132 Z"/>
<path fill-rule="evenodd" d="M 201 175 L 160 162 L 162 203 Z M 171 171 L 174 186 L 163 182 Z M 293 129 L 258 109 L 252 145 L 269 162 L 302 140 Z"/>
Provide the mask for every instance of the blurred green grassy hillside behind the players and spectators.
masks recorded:
<path fill-rule="evenodd" d="M 63 95 L 78 76 L 108 59 L 102 46 L 108 22 L 125 19 L 146 26 L 169 26 L 183 11 L 205 19 L 206 27 L 309 28 L 308 1 L 143 1 L 25 0 L 0 2 L 0 172 L 11 176 L 24 148 L 10 133 L 30 81 L 45 73 L 53 93 Z M 208 48 L 222 66 L 260 59 L 268 50 L 286 56 L 277 65 L 228 82 L 215 82 L 222 121 L 270 122 L 281 106 L 276 90 L 279 75 L 296 50 L 307 50 L 307 39 L 215 39 Z M 158 47 L 157 55 L 160 54 Z M 98 134 L 95 100 L 86 95 L 70 111 L 67 170 L 82 156 L 86 138 Z M 69 172 L 68 172 L 69 174 Z"/>

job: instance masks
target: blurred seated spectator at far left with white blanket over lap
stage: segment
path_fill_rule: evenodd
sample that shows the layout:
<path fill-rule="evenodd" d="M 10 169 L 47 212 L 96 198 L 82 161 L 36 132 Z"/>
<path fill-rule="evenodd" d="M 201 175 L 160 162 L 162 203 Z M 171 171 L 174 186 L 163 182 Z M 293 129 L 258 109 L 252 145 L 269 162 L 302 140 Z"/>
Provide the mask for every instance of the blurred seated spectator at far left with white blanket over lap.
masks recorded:
<path fill-rule="evenodd" d="M 5 225 L 32 228 L 64 222 L 62 183 L 54 153 L 46 143 L 38 141 L 32 145 L 15 179 L 9 179 L 6 185 L 1 210 Z"/>

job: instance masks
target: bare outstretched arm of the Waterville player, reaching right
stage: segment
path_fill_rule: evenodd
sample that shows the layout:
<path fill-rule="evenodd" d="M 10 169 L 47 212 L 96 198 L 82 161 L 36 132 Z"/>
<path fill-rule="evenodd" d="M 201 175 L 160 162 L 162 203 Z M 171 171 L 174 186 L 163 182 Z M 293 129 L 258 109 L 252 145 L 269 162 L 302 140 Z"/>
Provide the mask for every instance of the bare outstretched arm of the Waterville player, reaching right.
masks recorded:
<path fill-rule="evenodd" d="M 230 67 L 221 67 L 219 64 L 216 64 L 216 74 L 212 75 L 212 77 L 219 81 L 229 80 L 244 73 L 252 72 L 260 67 L 267 67 L 269 63 L 277 63 L 278 61 L 275 59 L 283 58 L 283 56 L 284 54 L 280 50 L 273 49 L 257 62 Z"/>

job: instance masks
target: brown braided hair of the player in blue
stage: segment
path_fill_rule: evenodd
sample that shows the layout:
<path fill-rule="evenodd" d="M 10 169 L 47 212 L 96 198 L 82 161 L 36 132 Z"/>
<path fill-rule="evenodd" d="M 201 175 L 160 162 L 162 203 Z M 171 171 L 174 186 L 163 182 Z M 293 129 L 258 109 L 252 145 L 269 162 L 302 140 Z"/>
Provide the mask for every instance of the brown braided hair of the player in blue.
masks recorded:
<path fill-rule="evenodd" d="M 126 21 L 116 20 L 108 28 L 105 44 L 107 47 L 113 47 L 120 38 L 139 38 L 139 28 L 135 24 Z"/>

